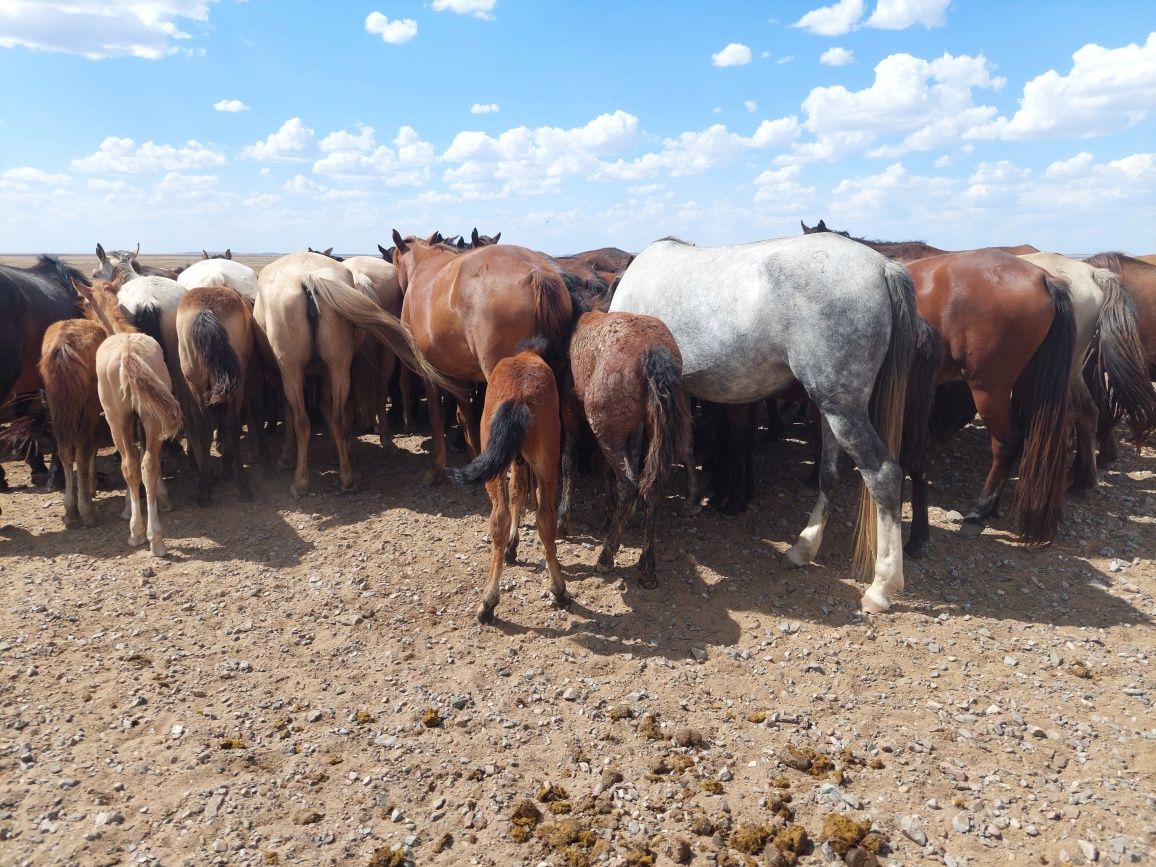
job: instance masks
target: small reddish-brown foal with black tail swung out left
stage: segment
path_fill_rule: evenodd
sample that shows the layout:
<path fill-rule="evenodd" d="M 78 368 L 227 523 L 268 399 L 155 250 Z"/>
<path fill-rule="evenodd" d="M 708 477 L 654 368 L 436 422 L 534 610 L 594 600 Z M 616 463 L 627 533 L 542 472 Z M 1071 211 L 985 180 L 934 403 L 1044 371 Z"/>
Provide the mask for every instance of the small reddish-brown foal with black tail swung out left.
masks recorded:
<path fill-rule="evenodd" d="M 400 245 L 399 245 L 400 249 Z M 570 603 L 566 581 L 558 565 L 557 514 L 554 494 L 558 477 L 561 422 L 558 390 L 554 371 L 539 354 L 543 341 L 517 355 L 502 358 L 490 371 L 482 410 L 482 452 L 468 466 L 447 475 L 459 484 L 486 482 L 490 496 L 490 575 L 486 581 L 477 620 L 490 623 L 498 605 L 498 580 L 503 560 L 518 558 L 518 527 L 526 509 L 529 480 L 538 483 L 538 538 L 546 550 L 554 603 Z M 507 489 L 506 469 L 513 469 L 513 490 Z M 521 461 L 525 461 L 523 464 Z"/>

